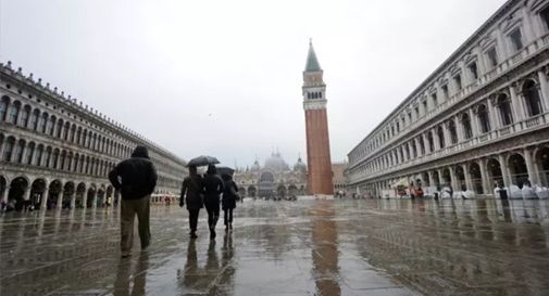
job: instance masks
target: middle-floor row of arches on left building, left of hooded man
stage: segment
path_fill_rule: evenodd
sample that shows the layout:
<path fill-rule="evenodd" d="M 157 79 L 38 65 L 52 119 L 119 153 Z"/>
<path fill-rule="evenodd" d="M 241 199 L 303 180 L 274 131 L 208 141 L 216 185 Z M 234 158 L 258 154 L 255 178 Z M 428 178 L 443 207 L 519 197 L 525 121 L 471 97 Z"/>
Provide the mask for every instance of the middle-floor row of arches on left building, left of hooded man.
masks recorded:
<path fill-rule="evenodd" d="M 37 166 L 63 171 L 107 177 L 114 163 L 65 149 L 16 139 L 0 133 L 1 160 L 26 166 Z"/>

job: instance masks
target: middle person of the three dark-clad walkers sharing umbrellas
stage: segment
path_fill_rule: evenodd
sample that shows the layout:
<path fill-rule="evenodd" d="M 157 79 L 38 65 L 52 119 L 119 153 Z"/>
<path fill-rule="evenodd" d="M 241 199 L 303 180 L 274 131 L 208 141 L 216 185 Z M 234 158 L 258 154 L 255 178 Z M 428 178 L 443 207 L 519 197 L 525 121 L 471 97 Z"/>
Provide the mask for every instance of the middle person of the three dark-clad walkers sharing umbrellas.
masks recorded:
<path fill-rule="evenodd" d="M 215 239 L 215 226 L 220 219 L 220 194 L 223 193 L 223 180 L 217 175 L 215 165 L 209 165 L 204 176 L 204 206 L 208 211 L 210 239 Z"/>

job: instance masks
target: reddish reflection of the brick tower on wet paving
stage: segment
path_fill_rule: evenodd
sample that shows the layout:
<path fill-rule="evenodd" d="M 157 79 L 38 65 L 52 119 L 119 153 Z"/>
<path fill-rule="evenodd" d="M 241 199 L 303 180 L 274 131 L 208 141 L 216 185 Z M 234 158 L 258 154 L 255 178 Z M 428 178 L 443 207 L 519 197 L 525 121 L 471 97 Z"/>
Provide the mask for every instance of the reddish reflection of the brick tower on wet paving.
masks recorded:
<path fill-rule="evenodd" d="M 311 209 L 312 222 L 312 275 L 321 295 L 341 294 L 338 282 L 337 226 L 333 205 L 319 201 Z"/>

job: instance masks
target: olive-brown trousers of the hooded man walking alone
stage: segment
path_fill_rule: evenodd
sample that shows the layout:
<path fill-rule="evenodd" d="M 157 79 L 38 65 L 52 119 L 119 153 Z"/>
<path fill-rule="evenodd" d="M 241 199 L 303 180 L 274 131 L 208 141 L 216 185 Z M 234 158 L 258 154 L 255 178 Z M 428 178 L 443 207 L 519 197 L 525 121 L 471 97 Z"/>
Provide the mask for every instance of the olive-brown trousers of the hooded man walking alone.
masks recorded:
<path fill-rule="evenodd" d="M 123 253 L 129 253 L 134 244 L 134 220 L 137 216 L 139 239 L 141 248 L 149 246 L 151 241 L 151 231 L 149 224 L 150 215 L 150 195 L 139 200 L 122 200 L 121 203 L 121 244 Z"/>

